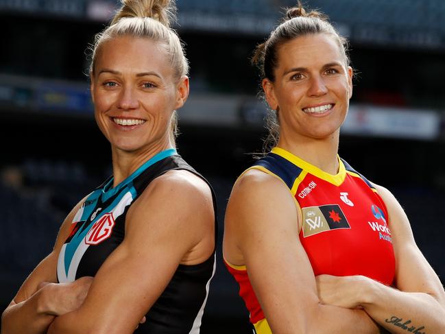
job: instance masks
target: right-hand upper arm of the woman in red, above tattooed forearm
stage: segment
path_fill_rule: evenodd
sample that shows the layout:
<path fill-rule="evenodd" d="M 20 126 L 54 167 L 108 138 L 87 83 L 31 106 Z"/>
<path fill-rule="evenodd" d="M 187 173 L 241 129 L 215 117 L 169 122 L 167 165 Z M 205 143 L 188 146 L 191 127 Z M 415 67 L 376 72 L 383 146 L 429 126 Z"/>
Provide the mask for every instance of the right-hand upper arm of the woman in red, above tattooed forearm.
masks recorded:
<path fill-rule="evenodd" d="M 445 293 L 440 279 L 420 252 L 409 220 L 402 206 L 387 189 L 376 185 L 387 206 L 396 257 L 396 287 L 401 291 L 431 294 L 445 307 Z"/>

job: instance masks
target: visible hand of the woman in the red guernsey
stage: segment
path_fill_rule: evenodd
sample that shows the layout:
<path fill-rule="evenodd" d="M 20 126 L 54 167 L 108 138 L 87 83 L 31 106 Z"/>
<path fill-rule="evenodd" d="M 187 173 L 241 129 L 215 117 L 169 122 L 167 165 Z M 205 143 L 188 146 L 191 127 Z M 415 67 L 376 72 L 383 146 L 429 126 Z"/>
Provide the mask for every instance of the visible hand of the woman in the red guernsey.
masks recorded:
<path fill-rule="evenodd" d="M 335 305 L 346 309 L 361 309 L 359 296 L 370 278 L 365 276 L 319 275 L 317 282 L 318 298 L 323 304 Z"/>

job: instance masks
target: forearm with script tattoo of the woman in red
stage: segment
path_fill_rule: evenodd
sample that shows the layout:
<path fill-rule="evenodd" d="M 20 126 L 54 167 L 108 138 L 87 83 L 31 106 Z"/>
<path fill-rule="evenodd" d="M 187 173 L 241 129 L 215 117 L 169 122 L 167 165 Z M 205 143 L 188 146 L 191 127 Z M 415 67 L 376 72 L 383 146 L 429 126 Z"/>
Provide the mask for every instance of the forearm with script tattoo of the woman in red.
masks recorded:
<path fill-rule="evenodd" d="M 398 291 L 374 281 L 363 291 L 361 306 L 391 333 L 445 333 L 445 309 L 433 296 Z"/>

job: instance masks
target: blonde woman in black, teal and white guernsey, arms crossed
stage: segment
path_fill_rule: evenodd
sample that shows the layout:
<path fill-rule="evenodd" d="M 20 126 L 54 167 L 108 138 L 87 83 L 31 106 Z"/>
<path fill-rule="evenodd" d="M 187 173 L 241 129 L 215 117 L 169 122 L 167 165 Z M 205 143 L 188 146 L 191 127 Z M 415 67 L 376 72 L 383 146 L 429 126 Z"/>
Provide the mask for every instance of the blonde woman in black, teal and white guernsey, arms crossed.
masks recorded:
<path fill-rule="evenodd" d="M 175 149 L 189 79 L 170 7 L 123 0 L 97 36 L 91 93 L 113 175 L 69 213 L 3 312 L 1 333 L 200 333 L 215 271 L 214 196 Z"/>

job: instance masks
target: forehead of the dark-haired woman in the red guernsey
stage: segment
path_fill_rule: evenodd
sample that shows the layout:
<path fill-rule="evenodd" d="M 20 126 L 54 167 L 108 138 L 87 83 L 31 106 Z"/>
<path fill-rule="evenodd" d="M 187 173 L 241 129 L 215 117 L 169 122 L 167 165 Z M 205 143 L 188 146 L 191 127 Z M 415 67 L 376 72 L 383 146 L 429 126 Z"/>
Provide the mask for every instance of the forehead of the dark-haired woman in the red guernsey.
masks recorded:
<path fill-rule="evenodd" d="M 278 48 L 278 68 L 322 67 L 332 62 L 345 63 L 345 56 L 334 36 L 310 34 L 287 41 Z"/>

